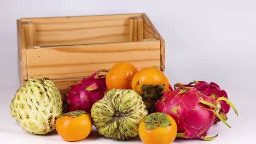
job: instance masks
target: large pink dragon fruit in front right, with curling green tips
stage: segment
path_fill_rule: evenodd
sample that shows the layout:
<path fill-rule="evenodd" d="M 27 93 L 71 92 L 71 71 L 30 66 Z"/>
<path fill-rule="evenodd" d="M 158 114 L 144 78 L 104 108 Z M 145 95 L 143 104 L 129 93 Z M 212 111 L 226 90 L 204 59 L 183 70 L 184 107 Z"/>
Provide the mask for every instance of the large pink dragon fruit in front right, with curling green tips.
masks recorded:
<path fill-rule="evenodd" d="M 237 111 L 234 105 L 226 98 L 214 99 L 199 92 L 196 88 L 177 88 L 174 91 L 167 91 L 155 103 L 156 112 L 164 112 L 172 116 L 178 127 L 177 137 L 185 139 L 201 138 L 203 140 L 213 140 L 216 136 L 206 137 L 207 131 L 214 123 L 216 116 L 228 127 L 229 124 L 219 115 L 219 101 L 226 101 Z"/>

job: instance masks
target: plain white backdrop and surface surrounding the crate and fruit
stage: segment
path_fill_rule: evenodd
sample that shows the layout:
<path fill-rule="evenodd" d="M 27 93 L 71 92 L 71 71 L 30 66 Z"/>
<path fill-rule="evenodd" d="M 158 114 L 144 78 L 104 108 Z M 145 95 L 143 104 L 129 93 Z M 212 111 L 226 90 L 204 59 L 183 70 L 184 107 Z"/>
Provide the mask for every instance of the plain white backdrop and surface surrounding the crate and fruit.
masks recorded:
<path fill-rule="evenodd" d="M 219 123 L 216 140 L 173 143 L 254 143 L 256 82 L 256 1 L 3 1 L 0 3 L 0 140 L 6 143 L 67 143 L 56 133 L 26 133 L 10 117 L 19 88 L 16 19 L 23 17 L 146 13 L 166 41 L 166 75 L 172 84 L 213 81 L 238 109 L 228 114 L 232 129 Z M 95 130 L 77 143 L 142 143 L 105 139 Z"/>

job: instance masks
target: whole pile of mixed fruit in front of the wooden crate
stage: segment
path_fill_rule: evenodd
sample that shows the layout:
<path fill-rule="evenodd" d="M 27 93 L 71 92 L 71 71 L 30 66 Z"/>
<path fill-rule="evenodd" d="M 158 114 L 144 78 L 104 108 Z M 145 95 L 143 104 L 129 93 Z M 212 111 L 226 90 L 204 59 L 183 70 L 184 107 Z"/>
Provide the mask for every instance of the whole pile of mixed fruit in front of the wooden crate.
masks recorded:
<path fill-rule="evenodd" d="M 32 134 L 56 128 L 66 141 L 83 140 L 92 124 L 98 133 L 115 140 L 139 135 L 146 143 L 171 143 L 207 137 L 214 123 L 226 123 L 230 106 L 226 92 L 216 84 L 177 83 L 174 91 L 155 67 L 137 70 L 130 63 L 113 65 L 84 78 L 63 97 L 49 79 L 26 81 L 11 101 L 11 116 Z"/>

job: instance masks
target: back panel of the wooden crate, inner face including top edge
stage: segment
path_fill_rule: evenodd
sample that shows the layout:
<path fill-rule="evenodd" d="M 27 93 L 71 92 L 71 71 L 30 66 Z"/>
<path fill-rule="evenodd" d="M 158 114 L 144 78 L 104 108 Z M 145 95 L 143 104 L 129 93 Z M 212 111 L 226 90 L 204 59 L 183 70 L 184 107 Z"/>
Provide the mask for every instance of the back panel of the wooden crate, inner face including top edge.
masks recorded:
<path fill-rule="evenodd" d="M 22 19 L 36 23 L 39 46 L 121 43 L 129 41 L 127 15 L 45 17 Z"/>

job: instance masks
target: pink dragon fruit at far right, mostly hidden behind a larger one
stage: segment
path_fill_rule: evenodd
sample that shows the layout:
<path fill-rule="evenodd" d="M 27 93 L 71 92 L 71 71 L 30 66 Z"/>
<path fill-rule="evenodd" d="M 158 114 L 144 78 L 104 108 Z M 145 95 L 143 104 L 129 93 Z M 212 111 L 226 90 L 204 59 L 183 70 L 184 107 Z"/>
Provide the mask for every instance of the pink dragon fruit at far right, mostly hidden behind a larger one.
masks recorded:
<path fill-rule="evenodd" d="M 174 85 L 174 88 L 176 87 L 179 87 L 182 89 L 195 87 L 197 91 L 200 91 L 201 93 L 207 96 L 211 96 L 214 99 L 218 99 L 219 97 L 225 97 L 228 99 L 228 94 L 226 94 L 224 90 L 220 89 L 220 87 L 214 82 L 207 83 L 205 81 L 194 81 L 194 82 L 190 82 L 188 85 L 183 85 L 182 83 L 176 83 L 176 85 Z M 220 106 L 221 107 L 219 110 L 219 114 L 222 115 L 224 119 L 226 119 L 227 118 L 226 113 L 229 112 L 230 105 L 226 103 L 226 101 L 220 101 Z M 220 119 L 216 117 L 216 119 L 214 120 L 214 123 L 217 123 L 219 121 Z"/>

